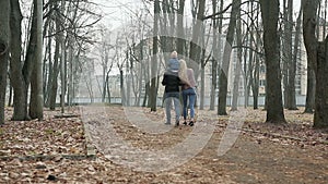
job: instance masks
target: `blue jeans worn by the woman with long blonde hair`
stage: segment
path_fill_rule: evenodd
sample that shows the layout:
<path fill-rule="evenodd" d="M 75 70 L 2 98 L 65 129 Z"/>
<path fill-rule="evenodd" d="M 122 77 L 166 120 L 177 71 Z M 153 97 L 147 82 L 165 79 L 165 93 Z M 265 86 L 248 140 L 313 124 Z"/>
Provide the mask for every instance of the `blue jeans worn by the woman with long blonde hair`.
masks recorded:
<path fill-rule="evenodd" d="M 196 100 L 196 91 L 195 88 L 188 88 L 183 90 L 183 100 L 184 100 L 184 120 L 187 119 L 188 114 L 188 107 L 187 102 L 189 100 L 189 108 L 190 108 L 190 118 L 194 119 L 195 116 L 195 100 Z"/>

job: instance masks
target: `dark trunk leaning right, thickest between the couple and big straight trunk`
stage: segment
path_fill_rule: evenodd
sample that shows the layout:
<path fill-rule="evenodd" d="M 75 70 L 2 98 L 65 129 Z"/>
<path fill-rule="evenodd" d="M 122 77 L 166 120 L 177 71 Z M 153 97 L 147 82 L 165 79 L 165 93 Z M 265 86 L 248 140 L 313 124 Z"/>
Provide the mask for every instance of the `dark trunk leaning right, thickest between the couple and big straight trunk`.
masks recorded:
<path fill-rule="evenodd" d="M 231 19 L 226 33 L 226 41 L 223 51 L 223 63 L 220 72 L 220 83 L 219 83 L 219 105 L 218 114 L 226 115 L 226 96 L 227 96 L 227 76 L 229 76 L 229 65 L 232 52 L 232 46 L 234 41 L 235 27 L 236 27 L 236 16 L 239 11 L 241 0 L 233 0 L 233 8 L 231 12 Z"/>

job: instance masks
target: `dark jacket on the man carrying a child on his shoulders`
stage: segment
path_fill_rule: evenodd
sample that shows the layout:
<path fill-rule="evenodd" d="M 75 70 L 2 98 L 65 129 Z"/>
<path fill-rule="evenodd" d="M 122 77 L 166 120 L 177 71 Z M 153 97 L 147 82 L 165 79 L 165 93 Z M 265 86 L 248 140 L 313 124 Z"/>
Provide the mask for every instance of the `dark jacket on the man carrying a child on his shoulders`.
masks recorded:
<path fill-rule="evenodd" d="M 166 71 L 162 81 L 162 85 L 165 86 L 165 93 L 178 93 L 181 85 L 178 73 Z"/>

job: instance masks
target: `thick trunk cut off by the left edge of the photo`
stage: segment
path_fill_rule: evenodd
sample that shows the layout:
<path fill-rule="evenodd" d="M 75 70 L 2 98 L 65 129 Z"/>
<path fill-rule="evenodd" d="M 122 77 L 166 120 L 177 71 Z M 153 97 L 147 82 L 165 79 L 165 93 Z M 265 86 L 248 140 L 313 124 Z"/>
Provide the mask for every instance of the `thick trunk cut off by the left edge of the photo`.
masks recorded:
<path fill-rule="evenodd" d="M 10 0 L 1 0 L 0 9 L 0 124 L 3 124 L 8 60 L 10 51 Z"/>

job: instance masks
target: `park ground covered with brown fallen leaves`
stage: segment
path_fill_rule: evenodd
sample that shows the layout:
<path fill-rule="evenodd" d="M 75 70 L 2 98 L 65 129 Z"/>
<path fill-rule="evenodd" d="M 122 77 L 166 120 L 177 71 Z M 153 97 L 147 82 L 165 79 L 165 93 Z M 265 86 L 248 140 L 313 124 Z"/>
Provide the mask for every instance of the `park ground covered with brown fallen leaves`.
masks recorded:
<path fill-rule="evenodd" d="M 157 122 L 159 128 L 164 127 L 163 109 L 150 112 L 138 108 L 138 111 Z M 11 113 L 8 109 L 8 119 Z M 60 111 L 45 111 L 44 121 L 8 120 L 0 126 L 0 183 L 328 182 L 328 132 L 313 130 L 313 115 L 303 114 L 302 109 L 285 111 L 285 125 L 263 123 L 265 111 L 247 110 L 238 116 L 237 121 L 244 123 L 236 124 L 241 125 L 235 130 L 239 132 L 236 142 L 223 156 L 218 155 L 218 148 L 227 125 L 236 121 L 234 112 L 216 116 L 214 111 L 198 110 L 196 126 L 172 125 L 167 132 L 156 134 L 133 125 L 131 120 L 138 121 L 138 116 L 127 114 L 121 107 L 104 107 L 94 112 L 74 109 L 71 113 L 78 116 L 55 118 Z M 109 140 L 108 124 L 124 142 L 150 151 L 184 143 L 195 134 L 194 128 L 201 127 L 198 125 L 211 124 L 214 130 L 202 149 L 185 163 L 160 172 L 144 172 L 110 159 L 118 157 L 113 155 L 114 149 L 122 146 Z M 86 156 L 90 144 L 97 148 L 95 157 Z"/>

